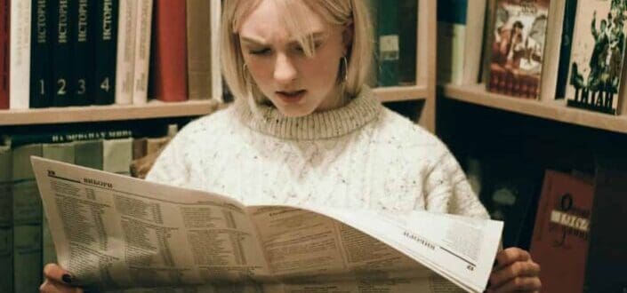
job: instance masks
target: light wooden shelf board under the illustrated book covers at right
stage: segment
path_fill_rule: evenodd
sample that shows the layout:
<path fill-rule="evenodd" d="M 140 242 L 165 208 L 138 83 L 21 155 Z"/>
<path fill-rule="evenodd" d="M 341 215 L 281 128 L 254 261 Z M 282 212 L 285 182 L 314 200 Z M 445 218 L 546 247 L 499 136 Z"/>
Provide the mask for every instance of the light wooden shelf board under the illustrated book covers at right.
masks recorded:
<path fill-rule="evenodd" d="M 606 131 L 627 133 L 627 116 L 607 115 L 573 107 L 567 107 L 564 100 L 540 101 L 535 99 L 512 98 L 486 91 L 484 84 L 445 85 L 443 95 L 485 107 L 532 115 L 563 123 L 597 128 Z"/>

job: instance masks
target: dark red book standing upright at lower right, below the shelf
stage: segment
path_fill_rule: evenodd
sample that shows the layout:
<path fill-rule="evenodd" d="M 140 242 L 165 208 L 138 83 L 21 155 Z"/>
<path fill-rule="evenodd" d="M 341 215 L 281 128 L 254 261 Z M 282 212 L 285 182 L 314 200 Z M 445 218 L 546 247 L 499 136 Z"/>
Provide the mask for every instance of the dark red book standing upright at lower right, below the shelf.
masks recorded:
<path fill-rule="evenodd" d="M 583 292 L 593 194 L 591 180 L 544 174 L 530 249 L 543 292 Z"/>

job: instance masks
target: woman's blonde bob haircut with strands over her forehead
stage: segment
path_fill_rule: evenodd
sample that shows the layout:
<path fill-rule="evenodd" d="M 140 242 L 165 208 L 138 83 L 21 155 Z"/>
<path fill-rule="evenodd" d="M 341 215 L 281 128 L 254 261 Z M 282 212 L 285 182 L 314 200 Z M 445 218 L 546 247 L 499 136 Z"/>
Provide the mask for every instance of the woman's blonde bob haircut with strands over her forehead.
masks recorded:
<path fill-rule="evenodd" d="M 339 72 L 337 83 L 342 84 L 345 97 L 355 97 L 366 83 L 373 54 L 373 28 L 364 0 L 228 0 L 223 2 L 221 22 L 221 66 L 222 74 L 236 99 L 253 96 L 258 101 L 266 100 L 253 84 L 253 77 L 244 68 L 239 44 L 239 27 L 244 18 L 261 3 L 274 1 L 278 9 L 285 13 L 286 28 L 298 37 L 307 56 L 315 53 L 314 42 L 298 32 L 308 28 L 308 23 L 299 17 L 306 13 L 305 6 L 315 12 L 323 21 L 332 25 L 352 26 L 353 35 L 347 52 L 348 75 L 344 82 L 344 72 Z M 342 62 L 341 62 L 342 63 Z M 341 64 L 342 67 L 342 64 Z M 338 68 L 338 71 L 340 69 Z M 342 70 L 347 70 L 342 67 Z"/>

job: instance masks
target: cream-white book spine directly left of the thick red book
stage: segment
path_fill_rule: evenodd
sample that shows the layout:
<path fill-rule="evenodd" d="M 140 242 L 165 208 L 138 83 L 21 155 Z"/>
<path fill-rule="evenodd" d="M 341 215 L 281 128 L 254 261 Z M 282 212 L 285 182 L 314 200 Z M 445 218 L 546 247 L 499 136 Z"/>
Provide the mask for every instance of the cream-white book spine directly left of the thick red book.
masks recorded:
<path fill-rule="evenodd" d="M 148 101 L 152 0 L 137 1 L 137 5 L 133 105 L 142 105 Z"/>

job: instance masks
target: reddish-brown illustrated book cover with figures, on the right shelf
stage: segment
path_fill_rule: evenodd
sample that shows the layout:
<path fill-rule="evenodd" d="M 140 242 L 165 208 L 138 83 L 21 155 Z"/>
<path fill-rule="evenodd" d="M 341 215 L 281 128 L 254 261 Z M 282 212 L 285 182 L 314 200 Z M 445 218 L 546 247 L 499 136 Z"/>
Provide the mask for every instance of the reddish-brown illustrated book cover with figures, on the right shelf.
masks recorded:
<path fill-rule="evenodd" d="M 496 0 L 488 91 L 536 99 L 550 0 Z"/>

